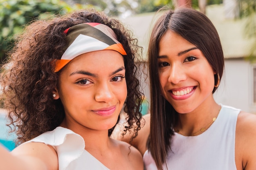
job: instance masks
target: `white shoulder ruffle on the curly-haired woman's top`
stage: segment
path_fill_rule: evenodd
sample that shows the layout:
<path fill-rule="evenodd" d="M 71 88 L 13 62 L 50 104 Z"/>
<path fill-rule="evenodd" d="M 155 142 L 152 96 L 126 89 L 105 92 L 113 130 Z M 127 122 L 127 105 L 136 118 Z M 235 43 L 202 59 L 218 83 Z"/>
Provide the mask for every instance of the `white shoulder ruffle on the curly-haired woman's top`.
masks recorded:
<path fill-rule="evenodd" d="M 53 146 L 58 154 L 59 170 L 65 170 L 72 161 L 82 155 L 85 148 L 83 137 L 63 127 L 57 127 L 27 142 L 42 142 Z"/>

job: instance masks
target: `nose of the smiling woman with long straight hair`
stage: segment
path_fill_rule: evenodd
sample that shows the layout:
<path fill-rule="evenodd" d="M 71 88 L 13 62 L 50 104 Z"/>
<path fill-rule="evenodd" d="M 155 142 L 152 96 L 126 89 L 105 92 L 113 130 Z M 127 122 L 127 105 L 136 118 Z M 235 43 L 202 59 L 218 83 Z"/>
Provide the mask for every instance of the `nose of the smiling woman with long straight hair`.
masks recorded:
<path fill-rule="evenodd" d="M 168 82 L 178 84 L 179 82 L 184 80 L 186 80 L 185 69 L 181 65 L 173 64 L 170 67 Z"/>

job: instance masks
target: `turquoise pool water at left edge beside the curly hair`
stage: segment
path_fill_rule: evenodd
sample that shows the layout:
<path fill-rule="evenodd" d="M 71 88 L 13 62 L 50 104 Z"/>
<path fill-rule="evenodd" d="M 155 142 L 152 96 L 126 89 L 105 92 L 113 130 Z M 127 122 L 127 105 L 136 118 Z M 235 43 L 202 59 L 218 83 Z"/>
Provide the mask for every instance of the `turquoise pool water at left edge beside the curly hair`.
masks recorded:
<path fill-rule="evenodd" d="M 8 132 L 9 127 L 6 126 L 7 121 L 5 116 L 0 110 L 0 143 L 8 150 L 13 150 L 15 148 L 14 139 L 16 135 Z"/>

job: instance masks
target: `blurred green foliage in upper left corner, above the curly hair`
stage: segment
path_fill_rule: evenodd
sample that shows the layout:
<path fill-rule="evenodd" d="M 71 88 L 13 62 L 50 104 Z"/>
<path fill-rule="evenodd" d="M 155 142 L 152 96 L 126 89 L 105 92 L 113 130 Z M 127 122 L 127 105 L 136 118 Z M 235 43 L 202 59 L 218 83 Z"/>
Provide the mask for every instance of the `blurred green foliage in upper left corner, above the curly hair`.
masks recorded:
<path fill-rule="evenodd" d="M 60 0 L 0 0 L 0 63 L 26 24 L 84 7 L 79 4 L 70 7 Z"/>

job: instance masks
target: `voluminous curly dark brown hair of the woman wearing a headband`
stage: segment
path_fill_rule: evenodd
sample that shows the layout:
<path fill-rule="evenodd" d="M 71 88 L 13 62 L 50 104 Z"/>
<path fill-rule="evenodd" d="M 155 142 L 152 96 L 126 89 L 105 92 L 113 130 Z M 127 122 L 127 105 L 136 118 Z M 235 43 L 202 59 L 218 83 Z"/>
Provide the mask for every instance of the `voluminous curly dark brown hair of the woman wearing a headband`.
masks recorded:
<path fill-rule="evenodd" d="M 137 124 L 134 137 L 137 136 L 143 96 L 135 65 L 135 57 L 140 54 L 137 39 L 132 38 L 132 32 L 119 20 L 95 9 L 85 9 L 30 23 L 18 36 L 13 50 L 9 53 L 9 60 L 2 66 L 1 97 L 4 99 L 4 108 L 8 110 L 11 131 L 18 135 L 18 144 L 54 130 L 63 121 L 63 105 L 60 99 L 54 100 L 52 97 L 59 76 L 58 72 L 54 72 L 53 61 L 60 59 L 63 53 L 66 44 L 63 31 L 85 22 L 98 22 L 109 26 L 124 46 L 127 53 L 124 64 L 128 92 L 124 104 L 124 112 L 128 114 L 128 126 L 124 133 Z M 113 129 L 114 127 L 109 130 L 109 136 Z"/>

